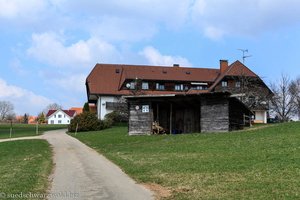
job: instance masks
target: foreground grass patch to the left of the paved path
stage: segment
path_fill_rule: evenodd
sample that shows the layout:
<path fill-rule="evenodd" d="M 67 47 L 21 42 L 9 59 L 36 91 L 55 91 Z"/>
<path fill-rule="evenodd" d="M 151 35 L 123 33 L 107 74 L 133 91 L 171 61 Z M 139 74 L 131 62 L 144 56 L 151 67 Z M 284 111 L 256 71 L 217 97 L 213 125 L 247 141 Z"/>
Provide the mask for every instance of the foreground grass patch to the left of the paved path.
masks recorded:
<path fill-rule="evenodd" d="M 44 140 L 0 143 L 0 199 L 41 199 L 25 195 L 47 193 L 51 154 Z"/>

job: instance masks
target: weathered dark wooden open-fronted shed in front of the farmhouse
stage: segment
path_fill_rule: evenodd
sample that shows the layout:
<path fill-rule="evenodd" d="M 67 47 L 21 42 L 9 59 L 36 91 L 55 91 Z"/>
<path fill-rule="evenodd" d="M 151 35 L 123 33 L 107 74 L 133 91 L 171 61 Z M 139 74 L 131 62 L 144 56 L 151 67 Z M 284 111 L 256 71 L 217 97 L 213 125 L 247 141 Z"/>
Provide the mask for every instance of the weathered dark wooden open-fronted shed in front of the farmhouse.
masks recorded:
<path fill-rule="evenodd" d="M 227 132 L 250 126 L 253 113 L 228 92 L 126 96 L 129 135 Z"/>

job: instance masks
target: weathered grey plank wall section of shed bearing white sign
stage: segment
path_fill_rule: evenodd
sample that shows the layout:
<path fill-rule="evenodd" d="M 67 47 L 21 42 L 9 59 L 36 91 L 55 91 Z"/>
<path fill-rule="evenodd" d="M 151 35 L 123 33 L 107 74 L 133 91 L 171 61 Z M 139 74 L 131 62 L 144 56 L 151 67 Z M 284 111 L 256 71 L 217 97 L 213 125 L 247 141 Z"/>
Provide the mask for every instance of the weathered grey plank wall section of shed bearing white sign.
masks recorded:
<path fill-rule="evenodd" d="M 149 106 L 149 112 L 142 111 L 143 105 Z M 151 134 L 152 120 L 153 109 L 150 102 L 129 101 L 129 135 Z"/>

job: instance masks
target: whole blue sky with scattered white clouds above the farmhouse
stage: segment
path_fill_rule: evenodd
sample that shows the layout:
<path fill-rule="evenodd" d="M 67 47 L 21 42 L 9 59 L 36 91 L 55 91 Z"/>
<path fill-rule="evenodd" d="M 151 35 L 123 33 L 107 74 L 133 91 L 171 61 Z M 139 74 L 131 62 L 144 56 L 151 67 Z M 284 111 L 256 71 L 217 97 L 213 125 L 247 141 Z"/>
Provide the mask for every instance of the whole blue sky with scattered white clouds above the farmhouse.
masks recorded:
<path fill-rule="evenodd" d="M 298 0 L 0 0 L 0 100 L 17 114 L 87 100 L 96 63 L 219 66 L 268 84 L 300 75 Z"/>

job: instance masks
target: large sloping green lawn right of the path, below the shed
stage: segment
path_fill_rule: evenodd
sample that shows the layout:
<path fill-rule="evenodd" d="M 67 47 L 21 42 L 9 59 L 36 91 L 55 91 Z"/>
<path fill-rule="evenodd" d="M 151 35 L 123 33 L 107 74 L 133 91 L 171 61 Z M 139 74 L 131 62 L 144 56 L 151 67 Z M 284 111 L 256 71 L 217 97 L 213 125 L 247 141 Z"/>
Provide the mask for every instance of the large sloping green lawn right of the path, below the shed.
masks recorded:
<path fill-rule="evenodd" d="M 123 126 L 76 137 L 138 182 L 168 189 L 167 199 L 300 198 L 300 123 L 162 136 L 128 136 Z"/>

